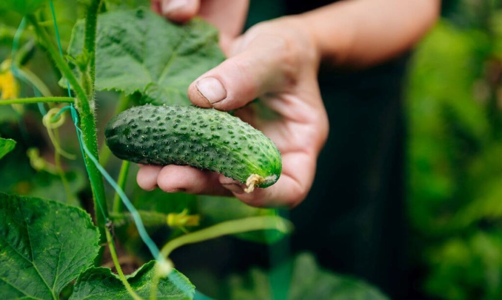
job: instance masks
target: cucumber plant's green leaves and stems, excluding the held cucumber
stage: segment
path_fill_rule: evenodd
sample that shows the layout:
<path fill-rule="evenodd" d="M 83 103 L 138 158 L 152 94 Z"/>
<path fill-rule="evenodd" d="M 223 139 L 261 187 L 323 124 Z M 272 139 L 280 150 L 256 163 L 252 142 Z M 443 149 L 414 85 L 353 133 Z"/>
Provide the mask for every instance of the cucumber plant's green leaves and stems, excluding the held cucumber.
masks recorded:
<path fill-rule="evenodd" d="M 70 110 L 75 111 L 74 120 L 79 120 L 75 124 L 79 127 L 77 132 L 81 132 L 79 136 L 84 165 L 94 202 L 94 209 L 90 212 L 96 219 L 95 227 L 89 215 L 78 207 L 40 198 L 0 194 L 2 215 L 0 291 L 8 298 L 55 299 L 60 297 L 64 292 L 63 289 L 71 284 L 72 280 L 77 279 L 75 284 L 71 284 L 73 285 L 71 298 L 90 295 L 98 298 L 157 296 L 191 298 L 194 295 L 194 286 L 188 278 L 174 269 L 164 268 L 163 272 L 160 272 L 161 268 L 155 267 L 155 261 L 146 263 L 130 276 L 124 275 L 121 270 L 113 239 L 113 220 L 118 218 L 132 222 L 134 218 L 124 217 L 128 213 L 122 213 L 121 206 L 115 205 L 116 203 L 113 205 L 113 212 L 110 213 L 108 210 L 109 201 L 104 190 L 102 167 L 96 164 L 99 152 L 95 103 L 99 100 L 95 95 L 96 90 L 115 90 L 123 93 L 122 98 L 127 100 L 134 98 L 130 96 L 131 94 L 139 94 L 136 102 L 129 105 L 141 103 L 188 105 L 186 89 L 189 83 L 200 73 L 223 60 L 217 45 L 217 32 L 202 20 L 194 20 L 184 26 L 174 25 L 145 8 L 111 11 L 109 8 L 112 6 L 106 6 L 106 3 L 100 0 L 87 1 L 84 7 L 85 19 L 75 24 L 67 55 L 63 56 L 58 50 L 57 27 L 53 32 L 56 35 L 54 39 L 49 34 L 51 31 L 40 21 L 41 11 L 47 12 L 50 8 L 51 14 L 54 14 L 54 21 L 57 22 L 52 2 L 30 0 L 7 1 L 0 4 L 0 10 L 15 11 L 23 16 L 22 25 L 28 22 L 32 29 L 31 33 L 37 37 L 39 44 L 62 75 L 59 83 L 64 87 L 68 86 L 72 91 L 69 97 L 48 95 L 50 91 L 47 92 L 49 89 L 44 88 L 45 84 L 40 78 L 31 73 L 31 77 L 23 76 L 28 74 L 29 70 L 13 63 L 12 68 L 7 70 L 9 74 L 27 81 L 37 92 L 46 91 L 46 95 L 7 99 L 0 104 L 3 104 L 2 107 L 7 107 L 6 105 L 45 103 L 41 109 L 45 108 L 44 105 L 49 105 L 51 115 L 44 117 L 44 125 L 48 128 L 51 141 L 59 150 L 59 154 L 64 151 L 59 146 L 59 136 L 55 133 L 56 125 L 52 124 L 57 123 L 57 126 L 60 126 L 62 122 L 58 117 L 64 113 L 62 108 L 68 103 L 74 105 L 76 110 L 73 108 Z M 21 27 L 14 37 L 13 44 L 19 43 Z M 27 33 L 23 34 L 26 35 Z M 156 39 L 153 39 L 153 36 L 156 36 Z M 151 43 L 150 47 L 147 42 Z M 159 42 L 165 47 L 159 48 Z M 13 56 L 21 55 L 21 51 L 16 50 L 18 49 L 13 50 Z M 172 80 L 174 76 L 176 80 Z M 7 95 L 6 92 L 3 94 Z M 12 95 L 9 98 L 12 98 Z M 117 111 L 126 106 L 128 103 L 126 105 L 119 103 Z M 268 139 L 264 141 L 271 144 Z M 6 155 L 15 144 L 12 139 L 0 139 L 0 155 L 2 157 Z M 35 152 L 35 155 L 36 153 L 38 152 Z M 47 169 L 49 163 L 39 157 L 33 159 L 34 166 Z M 124 163 L 121 174 L 127 174 L 128 168 L 124 166 L 129 167 Z M 279 169 L 275 170 L 275 173 L 278 177 L 280 162 Z M 64 175 L 62 174 L 62 179 L 67 180 Z M 126 179 L 127 176 L 121 176 L 118 190 L 124 188 Z M 51 195 L 44 196 L 51 198 Z M 115 198 L 120 200 L 120 197 Z M 289 231 L 289 225 L 285 220 L 270 215 L 234 220 L 232 222 L 240 223 L 237 230 L 233 229 L 237 228 L 232 225 L 233 223 L 228 226 L 225 226 L 225 222 L 219 223 L 214 229 L 206 224 L 202 229 L 206 234 L 198 234 L 197 230 L 193 231 L 194 228 L 190 228 L 193 232 L 188 232 L 186 226 L 199 226 L 199 218 L 205 216 L 196 211 L 193 215 L 189 215 L 186 209 L 178 213 L 172 211 L 167 217 L 162 217 L 161 214 L 160 218 L 157 214 L 157 219 L 152 218 L 152 213 L 140 214 L 149 218 L 147 224 L 148 221 L 157 224 L 164 222 L 166 225 L 185 229 L 185 232 L 178 233 L 181 236 L 166 244 L 164 248 L 169 253 L 182 245 L 183 240 L 193 243 L 222 234 L 239 234 L 244 231 L 265 229 L 276 229 L 283 233 Z M 250 216 L 253 214 L 247 217 Z M 192 235 L 193 233 L 197 234 Z M 53 238 L 50 238 L 51 236 Z M 181 242 L 178 239 L 181 239 Z M 103 243 L 109 248 L 118 276 L 109 268 L 99 267 L 103 257 L 100 245 Z M 78 257 L 78 262 L 72 257 Z"/>

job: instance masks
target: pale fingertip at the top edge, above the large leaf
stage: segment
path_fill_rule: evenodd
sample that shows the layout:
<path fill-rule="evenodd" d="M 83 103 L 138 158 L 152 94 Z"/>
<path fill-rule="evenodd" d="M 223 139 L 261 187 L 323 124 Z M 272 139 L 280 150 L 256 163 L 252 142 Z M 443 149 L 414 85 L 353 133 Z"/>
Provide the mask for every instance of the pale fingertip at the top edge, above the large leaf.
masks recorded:
<path fill-rule="evenodd" d="M 173 22 L 186 22 L 197 15 L 200 8 L 200 0 L 155 0 L 158 12 Z"/>

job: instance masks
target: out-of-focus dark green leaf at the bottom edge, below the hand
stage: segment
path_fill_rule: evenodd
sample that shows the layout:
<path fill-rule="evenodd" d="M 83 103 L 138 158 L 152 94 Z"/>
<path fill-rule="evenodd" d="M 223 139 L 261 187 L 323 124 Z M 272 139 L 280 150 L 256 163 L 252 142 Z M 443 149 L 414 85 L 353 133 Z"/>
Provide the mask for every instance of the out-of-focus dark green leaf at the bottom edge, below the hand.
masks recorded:
<path fill-rule="evenodd" d="M 284 269 L 284 265 L 279 268 Z M 273 293 L 287 287 L 287 298 L 300 299 L 361 299 L 361 300 L 385 300 L 386 295 L 375 287 L 362 280 L 348 276 L 338 275 L 319 268 L 315 258 L 309 253 L 299 254 L 292 264 L 286 266 L 288 272 L 269 273 L 260 269 L 251 269 L 245 276 L 233 275 L 228 280 L 228 295 L 230 299 L 272 299 Z M 291 273 L 292 271 L 292 273 Z M 278 274 L 290 278 L 286 281 L 278 278 Z M 289 279 L 289 281 L 288 281 Z M 276 286 L 275 283 L 281 286 Z M 289 282 L 289 283 L 287 283 Z M 284 286 L 285 285 L 285 286 Z"/>

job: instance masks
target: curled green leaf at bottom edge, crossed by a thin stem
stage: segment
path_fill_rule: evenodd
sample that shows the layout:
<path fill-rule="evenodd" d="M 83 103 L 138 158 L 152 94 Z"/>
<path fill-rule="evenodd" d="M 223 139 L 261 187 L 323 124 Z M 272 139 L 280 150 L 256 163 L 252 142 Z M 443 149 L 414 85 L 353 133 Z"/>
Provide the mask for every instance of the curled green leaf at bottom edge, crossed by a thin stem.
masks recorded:
<path fill-rule="evenodd" d="M 155 261 L 150 261 L 127 276 L 131 287 L 143 298 L 148 298 L 155 274 Z M 195 286 L 185 275 L 174 270 L 159 280 L 157 298 L 191 299 Z M 83 272 L 75 284 L 70 299 L 131 299 L 120 279 L 109 268 L 92 267 Z"/>

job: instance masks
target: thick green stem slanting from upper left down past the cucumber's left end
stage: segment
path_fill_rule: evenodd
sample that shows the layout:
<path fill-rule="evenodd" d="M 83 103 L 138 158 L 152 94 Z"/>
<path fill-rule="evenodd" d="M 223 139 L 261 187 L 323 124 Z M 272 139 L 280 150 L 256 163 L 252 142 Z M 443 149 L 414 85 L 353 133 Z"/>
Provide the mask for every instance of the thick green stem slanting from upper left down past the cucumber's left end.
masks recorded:
<path fill-rule="evenodd" d="M 28 21 L 35 28 L 37 36 L 43 43 L 50 57 L 54 60 L 56 67 L 61 71 L 61 74 L 68 80 L 70 86 L 73 88 L 75 95 L 77 96 L 76 108 L 80 115 L 80 126 L 83 133 L 83 141 L 90 153 L 97 157 L 97 137 L 96 137 L 96 122 L 94 120 L 94 111 L 90 106 L 89 100 L 85 94 L 84 89 L 78 83 L 77 78 L 71 71 L 68 64 L 61 57 L 56 47 L 52 43 L 47 32 L 38 25 L 37 19 L 33 15 L 27 16 Z M 105 224 L 106 218 L 108 217 L 108 210 L 106 206 L 106 198 L 104 192 L 103 178 L 97 170 L 96 166 L 87 158 L 84 157 L 84 163 L 88 170 L 89 180 L 91 182 L 91 190 L 94 200 L 94 212 L 96 216 L 96 223 L 101 233 L 100 243 L 105 242 Z M 99 208 L 103 211 L 98 212 Z M 104 215 L 104 216 L 103 216 Z"/>

